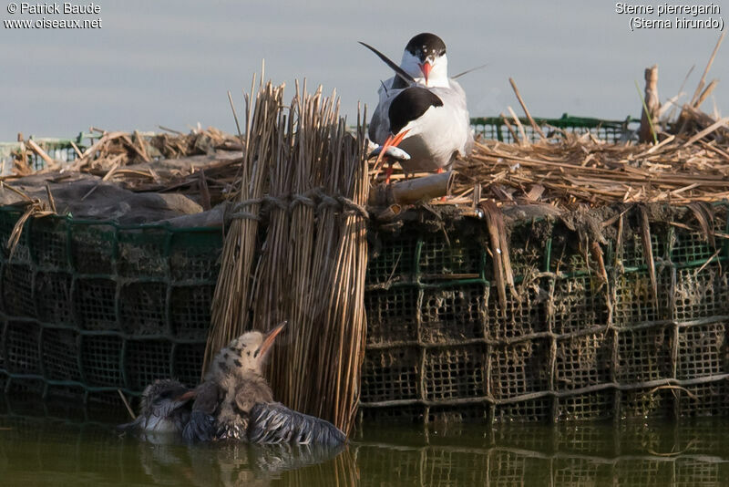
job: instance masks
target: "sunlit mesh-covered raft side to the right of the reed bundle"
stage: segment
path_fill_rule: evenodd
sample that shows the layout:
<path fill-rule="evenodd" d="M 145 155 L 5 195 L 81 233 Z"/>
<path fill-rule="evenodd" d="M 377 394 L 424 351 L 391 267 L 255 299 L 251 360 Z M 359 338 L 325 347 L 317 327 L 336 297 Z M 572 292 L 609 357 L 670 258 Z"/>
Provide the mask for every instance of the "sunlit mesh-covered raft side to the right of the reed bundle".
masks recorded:
<path fill-rule="evenodd" d="M 716 212 L 714 230 L 725 233 L 725 207 Z M 650 228 L 657 296 L 640 234 L 601 245 L 606 285 L 575 233 L 544 220 L 519 223 L 509 233 L 519 293 L 507 295 L 506 312 L 491 282 L 484 223 L 383 234 L 368 268 L 364 417 L 729 413 L 726 244 L 717 239 L 714 248 L 665 222 Z"/>

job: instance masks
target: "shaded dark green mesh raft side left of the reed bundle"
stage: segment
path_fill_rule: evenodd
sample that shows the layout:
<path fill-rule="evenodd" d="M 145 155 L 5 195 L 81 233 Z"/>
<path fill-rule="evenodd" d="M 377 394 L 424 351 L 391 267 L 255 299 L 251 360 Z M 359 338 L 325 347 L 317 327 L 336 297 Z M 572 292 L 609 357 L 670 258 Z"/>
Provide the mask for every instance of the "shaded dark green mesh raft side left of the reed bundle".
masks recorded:
<path fill-rule="evenodd" d="M 19 216 L 0 209 L 3 244 Z M 220 229 L 31 219 L 0 259 L 6 389 L 139 394 L 155 378 L 200 378 Z"/>

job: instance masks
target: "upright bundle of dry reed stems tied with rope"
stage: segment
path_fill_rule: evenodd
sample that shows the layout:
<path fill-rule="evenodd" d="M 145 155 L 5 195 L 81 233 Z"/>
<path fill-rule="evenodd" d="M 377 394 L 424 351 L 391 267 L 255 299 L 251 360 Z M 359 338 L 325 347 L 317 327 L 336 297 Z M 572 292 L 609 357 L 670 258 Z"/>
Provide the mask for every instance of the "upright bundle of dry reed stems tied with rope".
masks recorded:
<path fill-rule="evenodd" d="M 282 90 L 246 98 L 241 218 L 226 234 L 206 363 L 232 337 L 286 319 L 268 368 L 274 396 L 349 431 L 366 327 L 364 116 L 352 133 L 335 93 L 297 82 L 284 107 Z"/>

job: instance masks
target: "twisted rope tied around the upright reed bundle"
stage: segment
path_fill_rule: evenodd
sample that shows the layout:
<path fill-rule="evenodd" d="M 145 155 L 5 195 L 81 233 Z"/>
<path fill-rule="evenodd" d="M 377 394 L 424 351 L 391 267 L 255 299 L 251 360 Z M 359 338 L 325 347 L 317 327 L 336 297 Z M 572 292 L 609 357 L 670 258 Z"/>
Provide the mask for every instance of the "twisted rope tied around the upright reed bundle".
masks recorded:
<path fill-rule="evenodd" d="M 244 208 L 255 205 L 260 205 L 260 213 L 271 212 L 272 208 L 291 213 L 297 206 L 307 206 L 316 209 L 316 212 L 323 212 L 324 209 L 332 209 L 334 212 L 339 212 L 345 216 L 353 215 L 364 218 L 365 220 L 370 218 L 370 213 L 367 212 L 364 205 L 344 195 L 331 195 L 319 189 L 304 192 L 303 194 L 292 194 L 284 197 L 266 195 L 262 198 L 251 198 L 237 202 L 233 205 L 228 218 L 231 220 L 245 219 L 260 222 L 262 220 L 260 214 L 243 211 Z"/>

